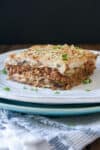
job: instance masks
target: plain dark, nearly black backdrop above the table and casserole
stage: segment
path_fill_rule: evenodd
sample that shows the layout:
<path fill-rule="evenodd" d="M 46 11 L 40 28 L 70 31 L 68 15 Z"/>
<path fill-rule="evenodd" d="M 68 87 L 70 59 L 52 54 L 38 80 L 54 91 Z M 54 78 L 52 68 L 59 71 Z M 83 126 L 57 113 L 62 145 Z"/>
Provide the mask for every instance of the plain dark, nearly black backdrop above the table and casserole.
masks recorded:
<path fill-rule="evenodd" d="M 0 0 L 0 44 L 100 43 L 99 0 Z"/>

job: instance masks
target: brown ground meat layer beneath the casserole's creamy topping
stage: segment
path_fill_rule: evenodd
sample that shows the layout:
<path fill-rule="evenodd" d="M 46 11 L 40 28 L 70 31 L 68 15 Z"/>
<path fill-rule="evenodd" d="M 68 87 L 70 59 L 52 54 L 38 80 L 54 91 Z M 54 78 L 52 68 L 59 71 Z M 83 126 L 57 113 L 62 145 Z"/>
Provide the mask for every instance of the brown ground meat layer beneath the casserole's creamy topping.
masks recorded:
<path fill-rule="evenodd" d="M 52 89 L 70 89 L 87 79 L 95 69 L 92 61 L 85 63 L 81 68 L 75 68 L 73 74 L 60 74 L 56 69 L 42 67 L 33 68 L 29 65 L 6 65 L 9 79 L 30 84 L 36 87 Z"/>

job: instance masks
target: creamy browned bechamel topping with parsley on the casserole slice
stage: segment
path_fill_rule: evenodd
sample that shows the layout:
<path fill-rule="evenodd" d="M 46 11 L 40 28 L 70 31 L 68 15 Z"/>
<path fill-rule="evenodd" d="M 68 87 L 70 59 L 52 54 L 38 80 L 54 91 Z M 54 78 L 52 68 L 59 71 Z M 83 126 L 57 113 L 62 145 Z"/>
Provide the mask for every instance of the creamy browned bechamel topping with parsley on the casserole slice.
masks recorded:
<path fill-rule="evenodd" d="M 73 45 L 32 46 L 19 54 L 9 55 L 6 64 L 29 64 L 38 68 L 47 66 L 64 74 L 65 71 L 81 67 L 87 60 L 95 61 L 95 57 L 94 53 Z"/>

